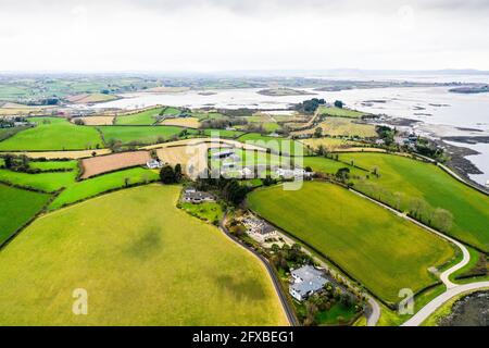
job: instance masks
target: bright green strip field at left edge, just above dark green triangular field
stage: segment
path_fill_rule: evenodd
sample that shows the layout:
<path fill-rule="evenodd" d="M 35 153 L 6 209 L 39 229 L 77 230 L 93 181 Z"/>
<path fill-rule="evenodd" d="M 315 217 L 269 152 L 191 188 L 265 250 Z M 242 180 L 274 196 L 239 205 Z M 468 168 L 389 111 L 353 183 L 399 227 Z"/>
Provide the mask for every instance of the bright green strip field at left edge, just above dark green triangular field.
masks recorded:
<path fill-rule="evenodd" d="M 77 171 L 27 174 L 9 170 L 0 170 L 0 181 L 2 182 L 36 188 L 47 192 L 52 192 L 62 187 L 72 185 L 76 178 L 76 175 Z"/>

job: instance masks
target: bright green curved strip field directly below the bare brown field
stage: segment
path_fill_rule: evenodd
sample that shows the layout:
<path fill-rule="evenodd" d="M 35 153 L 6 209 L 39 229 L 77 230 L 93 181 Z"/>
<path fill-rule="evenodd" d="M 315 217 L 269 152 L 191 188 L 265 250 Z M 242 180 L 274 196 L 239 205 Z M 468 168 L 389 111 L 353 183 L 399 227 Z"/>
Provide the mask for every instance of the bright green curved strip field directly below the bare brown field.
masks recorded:
<path fill-rule="evenodd" d="M 59 209 L 65 204 L 93 197 L 108 190 L 124 187 L 126 178 L 128 184 L 153 182 L 158 179 L 158 173 L 142 167 L 133 167 L 124 171 L 113 172 L 96 176 L 82 182 L 71 183 L 60 196 L 49 206 L 49 210 Z"/>

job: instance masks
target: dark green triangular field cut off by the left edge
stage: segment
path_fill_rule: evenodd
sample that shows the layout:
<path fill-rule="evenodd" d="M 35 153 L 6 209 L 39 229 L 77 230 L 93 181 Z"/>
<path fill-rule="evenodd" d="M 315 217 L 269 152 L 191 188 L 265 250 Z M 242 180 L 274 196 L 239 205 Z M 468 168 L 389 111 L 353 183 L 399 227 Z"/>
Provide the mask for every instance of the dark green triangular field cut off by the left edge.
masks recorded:
<path fill-rule="evenodd" d="M 0 245 L 29 221 L 50 197 L 0 184 Z"/>

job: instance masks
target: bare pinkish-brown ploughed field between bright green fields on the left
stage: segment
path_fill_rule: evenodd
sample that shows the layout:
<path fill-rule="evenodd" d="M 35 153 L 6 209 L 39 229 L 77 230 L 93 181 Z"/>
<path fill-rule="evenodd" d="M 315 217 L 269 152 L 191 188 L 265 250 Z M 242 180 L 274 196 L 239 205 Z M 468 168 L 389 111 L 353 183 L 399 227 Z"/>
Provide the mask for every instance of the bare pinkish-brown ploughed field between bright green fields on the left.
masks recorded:
<path fill-rule="evenodd" d="M 82 178 L 88 178 L 97 174 L 112 172 L 123 167 L 146 164 L 149 160 L 151 160 L 151 157 L 148 151 L 114 153 L 84 159 L 82 160 L 84 167 Z"/>

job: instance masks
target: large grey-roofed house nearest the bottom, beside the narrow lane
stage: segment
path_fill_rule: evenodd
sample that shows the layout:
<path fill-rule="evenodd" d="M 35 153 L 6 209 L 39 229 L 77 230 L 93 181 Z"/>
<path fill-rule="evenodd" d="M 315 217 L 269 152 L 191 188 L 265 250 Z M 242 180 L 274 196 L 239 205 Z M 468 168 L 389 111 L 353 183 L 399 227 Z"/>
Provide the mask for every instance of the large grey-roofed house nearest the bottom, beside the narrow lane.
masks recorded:
<path fill-rule="evenodd" d="M 328 279 L 323 276 L 323 272 L 312 265 L 304 265 L 290 272 L 293 283 L 289 285 L 289 293 L 299 301 L 302 301 L 321 290 Z"/>

